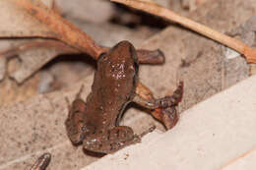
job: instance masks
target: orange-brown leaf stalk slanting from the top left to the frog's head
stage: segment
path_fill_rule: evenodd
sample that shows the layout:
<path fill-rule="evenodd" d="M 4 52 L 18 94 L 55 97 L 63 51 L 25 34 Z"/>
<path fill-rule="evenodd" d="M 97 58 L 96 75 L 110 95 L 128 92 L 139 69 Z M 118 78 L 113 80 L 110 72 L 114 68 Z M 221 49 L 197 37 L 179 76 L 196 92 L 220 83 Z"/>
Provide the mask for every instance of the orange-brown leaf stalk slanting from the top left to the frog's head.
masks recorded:
<path fill-rule="evenodd" d="M 38 36 L 60 39 L 94 58 L 102 53 L 101 48 L 89 35 L 47 8 L 39 0 L 12 0 L 12 2 L 50 29 L 48 35 L 38 34 Z"/>

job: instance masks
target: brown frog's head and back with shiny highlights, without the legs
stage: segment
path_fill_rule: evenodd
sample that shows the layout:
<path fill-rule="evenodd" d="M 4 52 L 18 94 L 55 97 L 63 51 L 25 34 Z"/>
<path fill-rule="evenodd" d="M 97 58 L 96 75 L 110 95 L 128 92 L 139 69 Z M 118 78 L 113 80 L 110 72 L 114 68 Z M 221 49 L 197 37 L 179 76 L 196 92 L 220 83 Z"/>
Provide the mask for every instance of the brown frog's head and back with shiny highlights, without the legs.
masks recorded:
<path fill-rule="evenodd" d="M 137 54 L 130 42 L 121 41 L 100 56 L 92 93 L 87 99 L 86 114 L 92 124 L 115 125 L 118 114 L 134 97 L 137 75 Z"/>

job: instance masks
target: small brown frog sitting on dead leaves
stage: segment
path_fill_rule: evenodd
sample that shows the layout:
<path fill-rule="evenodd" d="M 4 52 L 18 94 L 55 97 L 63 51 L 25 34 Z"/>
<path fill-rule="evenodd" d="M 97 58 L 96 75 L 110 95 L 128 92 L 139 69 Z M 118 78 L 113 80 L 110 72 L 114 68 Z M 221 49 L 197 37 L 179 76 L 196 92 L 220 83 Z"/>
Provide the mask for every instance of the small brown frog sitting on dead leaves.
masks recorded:
<path fill-rule="evenodd" d="M 140 57 L 140 56 L 139 56 Z M 87 102 L 81 98 L 81 87 L 65 122 L 68 137 L 73 144 L 80 144 L 87 150 L 101 153 L 116 151 L 131 143 L 140 142 L 127 126 L 119 126 L 126 105 L 134 101 L 153 110 L 167 129 L 178 120 L 175 106 L 182 98 L 180 84 L 172 96 L 155 99 L 151 91 L 139 83 L 139 60 L 134 46 L 121 41 L 97 61 L 92 92 Z"/>

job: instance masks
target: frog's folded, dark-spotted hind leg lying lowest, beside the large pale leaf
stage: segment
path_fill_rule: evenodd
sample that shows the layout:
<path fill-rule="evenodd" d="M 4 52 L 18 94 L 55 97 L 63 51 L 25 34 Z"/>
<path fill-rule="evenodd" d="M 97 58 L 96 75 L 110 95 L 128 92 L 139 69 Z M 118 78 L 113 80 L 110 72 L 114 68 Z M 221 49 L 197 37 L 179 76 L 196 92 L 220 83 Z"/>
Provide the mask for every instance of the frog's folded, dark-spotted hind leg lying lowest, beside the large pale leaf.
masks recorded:
<path fill-rule="evenodd" d="M 140 136 L 134 135 L 130 127 L 119 126 L 86 138 L 83 146 L 85 149 L 94 152 L 112 153 L 136 142 L 141 142 Z"/>

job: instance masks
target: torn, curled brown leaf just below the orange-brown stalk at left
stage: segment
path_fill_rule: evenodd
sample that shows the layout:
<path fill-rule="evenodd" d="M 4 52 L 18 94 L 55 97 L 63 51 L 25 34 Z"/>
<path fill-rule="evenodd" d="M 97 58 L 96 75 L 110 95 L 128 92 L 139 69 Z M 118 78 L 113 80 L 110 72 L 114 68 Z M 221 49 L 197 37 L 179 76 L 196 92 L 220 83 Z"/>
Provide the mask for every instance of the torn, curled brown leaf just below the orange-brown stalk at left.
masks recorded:
<path fill-rule="evenodd" d="M 12 48 L 13 53 L 17 53 L 22 60 L 21 67 L 10 75 L 18 83 L 23 83 L 30 78 L 33 73 L 40 69 L 53 57 L 65 53 L 78 53 L 74 48 L 68 47 L 56 40 L 32 41 L 20 45 L 17 49 Z"/>

